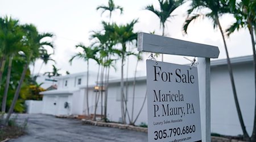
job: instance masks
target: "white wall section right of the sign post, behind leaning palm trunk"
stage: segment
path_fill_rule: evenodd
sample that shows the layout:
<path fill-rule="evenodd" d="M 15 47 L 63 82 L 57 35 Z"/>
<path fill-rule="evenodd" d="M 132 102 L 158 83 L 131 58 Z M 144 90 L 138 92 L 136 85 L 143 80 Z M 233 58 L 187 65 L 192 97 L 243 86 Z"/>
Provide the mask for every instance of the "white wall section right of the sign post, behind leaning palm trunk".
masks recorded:
<path fill-rule="evenodd" d="M 242 134 L 228 69 L 218 66 L 211 71 L 211 131 L 224 135 Z M 233 65 L 233 72 L 243 120 L 251 135 L 255 104 L 253 64 Z"/>

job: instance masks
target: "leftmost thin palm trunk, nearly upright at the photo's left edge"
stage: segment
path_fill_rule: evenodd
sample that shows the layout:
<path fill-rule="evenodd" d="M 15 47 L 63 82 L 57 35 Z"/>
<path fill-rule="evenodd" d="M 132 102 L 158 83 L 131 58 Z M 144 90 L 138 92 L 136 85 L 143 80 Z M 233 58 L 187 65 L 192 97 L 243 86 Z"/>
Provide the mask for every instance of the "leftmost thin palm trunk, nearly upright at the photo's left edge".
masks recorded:
<path fill-rule="evenodd" d="M 2 112 L 6 111 L 6 100 L 7 100 L 7 93 L 8 93 L 9 84 L 10 84 L 12 62 L 13 62 L 13 55 L 10 55 L 9 65 L 8 65 L 8 73 L 7 73 L 6 84 L 5 84 L 5 91 L 3 93 L 3 100 L 2 100 Z"/>

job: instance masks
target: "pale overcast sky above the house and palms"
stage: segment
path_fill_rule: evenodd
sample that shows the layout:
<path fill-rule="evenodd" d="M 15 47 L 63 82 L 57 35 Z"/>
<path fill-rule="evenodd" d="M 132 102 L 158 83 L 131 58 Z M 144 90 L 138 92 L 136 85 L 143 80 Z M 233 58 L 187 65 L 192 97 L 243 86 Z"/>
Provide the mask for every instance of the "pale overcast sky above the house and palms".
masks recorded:
<path fill-rule="evenodd" d="M 135 24 L 134 32 L 150 33 L 155 31 L 155 34 L 162 35 L 158 17 L 151 11 L 143 10 L 147 5 L 154 5 L 156 8 L 159 8 L 157 0 L 115 0 L 114 3 L 123 7 L 123 14 L 120 15 L 119 11 L 113 12 L 112 22 L 126 24 L 138 18 L 139 22 Z M 65 75 L 66 71 L 69 73 L 86 71 L 85 61 L 74 60 L 71 65 L 68 60 L 80 51 L 75 49 L 75 45 L 83 43 L 89 46 L 92 43 L 90 40 L 92 31 L 101 31 L 101 21 L 109 21 L 108 11 L 101 15 L 102 11 L 96 10 L 97 6 L 107 4 L 108 0 L 0 0 L 0 16 L 12 16 L 12 18 L 19 19 L 22 24 L 34 24 L 39 32 L 53 33 L 55 35 L 53 37 L 55 54 L 52 56 L 52 59 L 56 61 L 56 67 L 60 69 L 60 73 Z M 187 9 L 188 3 L 185 3 L 185 5 L 174 11 L 173 15 L 175 16 L 168 19 L 166 23 L 166 36 L 217 46 L 220 49 L 218 59 L 226 58 L 220 31 L 218 29 L 213 30 L 212 22 L 209 19 L 197 19 L 189 25 L 188 35 L 183 34 L 182 26 L 187 17 Z M 229 27 L 232 22 L 234 22 L 234 18 L 230 15 L 224 15 L 220 18 L 220 23 L 224 29 Z M 247 56 L 253 53 L 250 34 L 246 29 L 234 32 L 233 35 L 226 38 L 226 41 L 230 57 Z M 137 51 L 134 46 L 131 46 L 131 49 Z M 49 50 L 49 52 L 52 51 Z M 145 60 L 148 56 L 148 54 L 144 54 L 143 61 L 139 62 L 139 76 L 146 75 Z M 193 59 L 193 57 L 189 57 L 189 59 Z M 157 60 L 160 61 L 160 57 Z M 164 61 L 176 64 L 189 64 L 189 61 L 184 59 L 183 56 L 164 55 Z M 132 77 L 134 74 L 135 62 L 135 57 L 129 57 L 129 77 Z M 38 73 L 41 64 L 42 61 L 38 60 L 35 62 L 35 67 L 31 65 L 30 69 L 34 69 L 34 73 Z M 52 64 L 54 62 L 49 61 L 47 65 L 43 65 L 40 73 L 51 71 Z M 119 76 L 121 74 L 120 67 L 121 62 L 119 61 L 116 63 L 117 70 L 112 69 L 111 73 L 114 76 Z M 96 62 L 90 62 L 89 70 L 97 72 Z"/>

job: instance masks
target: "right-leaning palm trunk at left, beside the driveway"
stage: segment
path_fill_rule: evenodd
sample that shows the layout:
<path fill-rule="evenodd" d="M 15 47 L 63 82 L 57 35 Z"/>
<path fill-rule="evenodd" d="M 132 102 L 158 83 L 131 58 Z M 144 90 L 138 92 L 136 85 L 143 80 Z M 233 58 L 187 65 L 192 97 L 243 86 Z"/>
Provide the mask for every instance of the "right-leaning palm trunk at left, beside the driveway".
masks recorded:
<path fill-rule="evenodd" d="M 18 97 L 19 97 L 20 88 L 22 86 L 22 83 L 24 81 L 24 78 L 25 78 L 25 75 L 26 75 L 26 72 L 27 72 L 28 64 L 30 63 L 31 56 L 32 56 L 32 54 L 30 54 L 30 56 L 28 57 L 27 64 L 23 68 L 22 76 L 20 77 L 20 80 L 19 80 L 19 85 L 16 88 L 14 98 L 13 98 L 13 102 L 11 102 L 11 107 L 9 108 L 8 114 L 7 114 L 6 119 L 5 119 L 5 124 L 7 124 L 9 122 L 10 116 L 13 113 L 14 106 L 16 104 L 16 101 L 17 101 Z"/>

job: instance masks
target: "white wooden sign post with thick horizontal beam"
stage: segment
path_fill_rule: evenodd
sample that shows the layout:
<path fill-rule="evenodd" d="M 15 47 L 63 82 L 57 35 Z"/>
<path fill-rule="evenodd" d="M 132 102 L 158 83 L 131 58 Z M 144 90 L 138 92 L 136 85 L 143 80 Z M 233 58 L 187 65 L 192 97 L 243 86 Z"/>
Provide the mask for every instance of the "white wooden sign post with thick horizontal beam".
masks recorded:
<path fill-rule="evenodd" d="M 201 116 L 200 117 L 201 118 L 201 140 L 210 141 L 210 58 L 218 57 L 220 53 L 220 51 L 218 50 L 218 47 L 199 44 L 199 43 L 192 43 L 184 40 L 172 39 L 170 37 L 139 33 L 138 34 L 138 51 L 165 53 L 169 55 L 199 57 L 197 59 L 199 62 L 197 72 L 198 72 L 200 114 L 201 114 L 200 115 Z M 188 125 L 189 125 L 188 127 L 190 127 L 190 124 Z M 183 129 L 183 127 L 187 127 L 187 126 L 175 126 L 175 128 L 176 127 Z M 193 124 L 192 124 L 192 127 L 193 127 Z M 171 131 L 169 129 L 171 128 L 168 128 L 168 131 Z M 163 128 L 163 130 L 166 130 L 166 129 Z M 150 131 L 151 130 L 148 130 L 148 135 L 152 135 L 152 133 L 149 133 Z M 174 131 L 174 128 L 172 128 L 172 131 Z M 176 128 L 176 131 L 177 131 L 177 128 Z M 159 131 L 157 133 L 159 137 Z M 152 137 L 154 137 L 154 135 Z M 150 136 L 148 136 L 148 141 L 151 141 Z"/>

